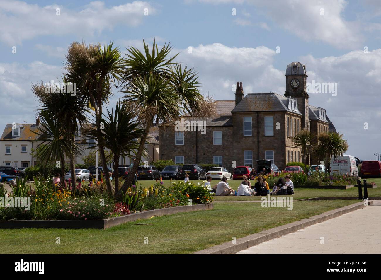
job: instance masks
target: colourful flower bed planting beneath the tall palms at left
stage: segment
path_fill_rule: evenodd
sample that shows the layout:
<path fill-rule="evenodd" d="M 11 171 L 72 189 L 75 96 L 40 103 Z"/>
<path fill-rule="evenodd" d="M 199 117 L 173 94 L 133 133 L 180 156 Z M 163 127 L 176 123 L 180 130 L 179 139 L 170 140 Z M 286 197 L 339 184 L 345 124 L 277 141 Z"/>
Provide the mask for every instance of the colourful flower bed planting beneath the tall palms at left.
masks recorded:
<path fill-rule="evenodd" d="M 28 197 L 29 205 L 9 203 L 20 197 Z M 4 185 L 0 186 L 0 221 L 100 220 L 145 210 L 209 204 L 212 198 L 204 187 L 183 182 L 171 182 L 170 186 L 158 182 L 148 189 L 132 186 L 123 194 L 122 201 L 115 201 L 101 183 L 79 182 L 74 193 L 65 186 L 53 186 L 51 181 L 38 178 L 34 178 L 31 188 L 21 179 L 12 187 L 11 194 L 6 194 Z"/>

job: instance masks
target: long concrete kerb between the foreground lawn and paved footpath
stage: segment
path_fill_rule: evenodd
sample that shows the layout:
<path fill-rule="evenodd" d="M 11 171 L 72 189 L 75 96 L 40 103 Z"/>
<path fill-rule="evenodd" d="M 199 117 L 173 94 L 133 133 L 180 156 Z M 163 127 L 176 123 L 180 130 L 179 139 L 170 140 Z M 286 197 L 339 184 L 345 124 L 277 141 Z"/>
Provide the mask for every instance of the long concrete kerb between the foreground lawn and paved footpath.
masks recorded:
<path fill-rule="evenodd" d="M 373 201 L 369 200 L 368 205 L 373 205 Z M 358 210 L 365 207 L 364 202 L 357 202 L 352 205 L 344 206 L 335 210 L 330 210 L 328 212 L 312 216 L 307 219 L 302 219 L 300 221 L 292 222 L 290 224 L 285 224 L 283 226 L 274 227 L 272 229 L 263 230 L 256 234 L 251 234 L 246 237 L 238 238 L 235 244 L 232 241 L 213 246 L 201 251 L 197 251 L 194 254 L 234 254 L 238 251 L 245 250 L 252 246 L 258 245 L 259 243 L 269 241 L 274 238 L 281 237 L 283 235 L 295 232 L 304 227 L 317 224 L 319 222 L 327 221 L 332 218 L 336 218 L 343 214 Z"/>

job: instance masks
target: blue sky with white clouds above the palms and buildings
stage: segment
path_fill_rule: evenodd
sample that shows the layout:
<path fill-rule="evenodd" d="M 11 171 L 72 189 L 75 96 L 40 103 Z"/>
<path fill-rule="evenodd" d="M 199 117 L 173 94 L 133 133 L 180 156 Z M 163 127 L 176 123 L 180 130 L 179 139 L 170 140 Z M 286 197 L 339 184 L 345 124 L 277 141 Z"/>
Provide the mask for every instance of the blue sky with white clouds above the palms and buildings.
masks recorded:
<path fill-rule="evenodd" d="M 362 0 L 0 0 L 0 130 L 35 123 L 32 83 L 59 81 L 73 41 L 114 42 L 123 53 L 170 43 L 177 62 L 199 73 L 202 93 L 234 100 L 286 89 L 286 66 L 306 64 L 310 93 L 349 143 L 347 154 L 381 154 L 381 1 Z M 112 106 L 122 97 L 115 92 Z"/>

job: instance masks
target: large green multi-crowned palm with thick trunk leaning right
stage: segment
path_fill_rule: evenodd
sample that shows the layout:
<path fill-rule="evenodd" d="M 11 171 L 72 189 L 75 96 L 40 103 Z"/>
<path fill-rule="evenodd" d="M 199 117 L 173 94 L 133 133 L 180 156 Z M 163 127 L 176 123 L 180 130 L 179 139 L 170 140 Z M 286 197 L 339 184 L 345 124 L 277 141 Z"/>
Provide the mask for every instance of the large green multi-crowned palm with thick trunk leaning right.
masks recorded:
<path fill-rule="evenodd" d="M 165 44 L 159 51 L 154 41 L 150 53 L 148 45 L 143 43 L 144 54 L 131 46 L 123 60 L 124 102 L 127 110 L 135 112 L 144 128 L 136 164 L 122 186 L 123 191 L 131 185 L 138 170 L 147 135 L 155 120 L 158 125 L 159 122 L 173 123 L 184 113 L 205 117 L 214 115 L 210 101 L 205 100 L 199 91 L 197 73 L 173 62 L 177 54 L 167 58 L 171 51 L 169 45 Z"/>

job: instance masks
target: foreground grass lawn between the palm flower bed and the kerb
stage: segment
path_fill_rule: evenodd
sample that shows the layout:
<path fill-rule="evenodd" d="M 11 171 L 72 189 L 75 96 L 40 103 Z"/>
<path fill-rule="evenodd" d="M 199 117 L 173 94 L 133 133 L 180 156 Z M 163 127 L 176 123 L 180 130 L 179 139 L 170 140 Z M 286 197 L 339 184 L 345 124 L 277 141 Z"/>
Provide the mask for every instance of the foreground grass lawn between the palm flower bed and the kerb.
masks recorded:
<path fill-rule="evenodd" d="M 292 211 L 262 208 L 261 203 L 216 203 L 213 210 L 128 222 L 106 230 L 0 230 L 0 243 L 2 253 L 192 253 L 352 203 L 296 201 Z"/>

